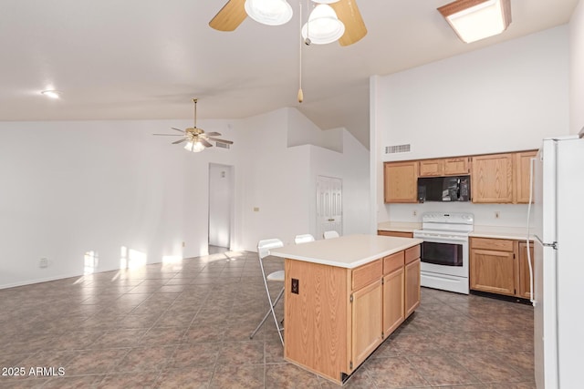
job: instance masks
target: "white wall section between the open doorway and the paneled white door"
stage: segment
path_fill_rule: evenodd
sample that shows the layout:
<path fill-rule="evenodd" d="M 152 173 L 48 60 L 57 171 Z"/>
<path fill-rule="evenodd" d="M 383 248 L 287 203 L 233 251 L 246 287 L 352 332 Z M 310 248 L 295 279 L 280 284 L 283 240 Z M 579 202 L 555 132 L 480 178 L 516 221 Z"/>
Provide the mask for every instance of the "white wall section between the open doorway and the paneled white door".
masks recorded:
<path fill-rule="evenodd" d="M 308 228 L 308 152 L 287 148 L 287 114 L 283 108 L 245 119 L 245 250 L 263 239 L 289 243 Z"/>

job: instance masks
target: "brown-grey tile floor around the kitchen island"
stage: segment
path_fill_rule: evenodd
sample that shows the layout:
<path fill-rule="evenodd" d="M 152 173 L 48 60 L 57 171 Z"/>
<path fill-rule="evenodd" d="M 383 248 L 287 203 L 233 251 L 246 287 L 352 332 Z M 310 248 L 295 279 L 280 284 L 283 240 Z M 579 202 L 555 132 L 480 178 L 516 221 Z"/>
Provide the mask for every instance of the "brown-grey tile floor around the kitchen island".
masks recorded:
<path fill-rule="evenodd" d="M 249 339 L 259 274 L 228 251 L 0 290 L 0 388 L 337 387 L 286 363 L 272 322 Z M 530 306 L 422 288 L 345 387 L 533 388 L 532 333 Z"/>

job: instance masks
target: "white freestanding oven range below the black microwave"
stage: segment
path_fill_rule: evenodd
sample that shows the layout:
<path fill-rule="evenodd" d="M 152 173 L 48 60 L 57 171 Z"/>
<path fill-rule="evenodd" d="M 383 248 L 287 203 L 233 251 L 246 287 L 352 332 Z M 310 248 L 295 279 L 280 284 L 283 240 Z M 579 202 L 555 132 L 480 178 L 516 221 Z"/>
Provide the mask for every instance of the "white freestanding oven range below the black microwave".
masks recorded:
<path fill-rule="evenodd" d="M 421 284 L 429 288 L 468 294 L 468 234 L 473 230 L 470 213 L 426 212 L 422 230 Z"/>

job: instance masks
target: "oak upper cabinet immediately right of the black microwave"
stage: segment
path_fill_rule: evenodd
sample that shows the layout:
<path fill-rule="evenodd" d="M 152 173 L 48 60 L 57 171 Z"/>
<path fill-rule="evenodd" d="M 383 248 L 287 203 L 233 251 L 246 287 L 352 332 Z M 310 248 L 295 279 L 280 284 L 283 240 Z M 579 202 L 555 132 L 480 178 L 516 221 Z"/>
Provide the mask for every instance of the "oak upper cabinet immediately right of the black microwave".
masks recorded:
<path fill-rule="evenodd" d="M 471 169 L 473 202 L 513 202 L 514 155 L 474 156 Z"/>

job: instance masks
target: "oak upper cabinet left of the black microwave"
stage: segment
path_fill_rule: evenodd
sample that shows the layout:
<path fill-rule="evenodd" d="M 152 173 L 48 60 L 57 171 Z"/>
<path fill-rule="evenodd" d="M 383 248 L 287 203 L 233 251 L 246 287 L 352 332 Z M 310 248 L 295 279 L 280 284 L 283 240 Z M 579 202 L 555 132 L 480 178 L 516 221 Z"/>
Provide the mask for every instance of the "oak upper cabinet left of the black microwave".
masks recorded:
<path fill-rule="evenodd" d="M 418 202 L 418 161 L 383 164 L 385 202 Z"/>

